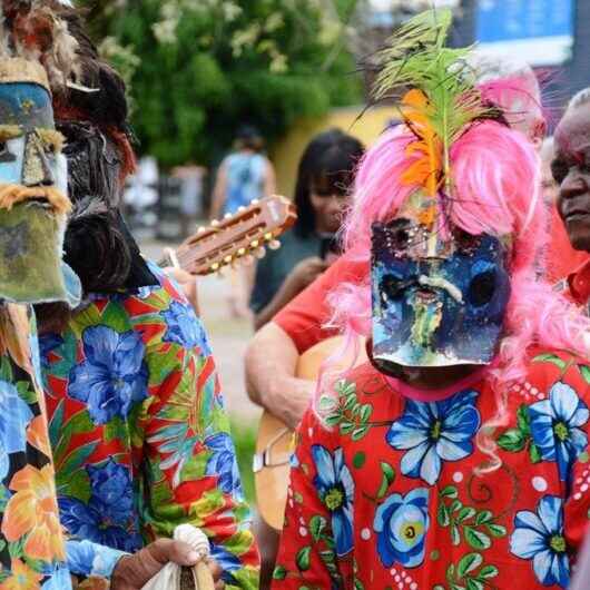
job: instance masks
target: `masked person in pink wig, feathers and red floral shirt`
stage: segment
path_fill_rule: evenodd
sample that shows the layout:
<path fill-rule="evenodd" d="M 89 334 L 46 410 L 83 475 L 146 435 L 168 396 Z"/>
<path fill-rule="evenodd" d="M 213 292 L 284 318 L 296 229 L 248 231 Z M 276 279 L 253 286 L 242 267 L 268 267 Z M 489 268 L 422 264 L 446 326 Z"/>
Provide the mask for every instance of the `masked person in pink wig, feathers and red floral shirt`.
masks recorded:
<path fill-rule="evenodd" d="M 356 175 L 358 276 L 328 295 L 346 346 L 298 427 L 277 590 L 566 589 L 587 529 L 590 321 L 537 277 L 535 150 L 450 24 L 421 14 L 377 56 L 403 125 Z M 360 337 L 371 362 L 343 372 Z"/>

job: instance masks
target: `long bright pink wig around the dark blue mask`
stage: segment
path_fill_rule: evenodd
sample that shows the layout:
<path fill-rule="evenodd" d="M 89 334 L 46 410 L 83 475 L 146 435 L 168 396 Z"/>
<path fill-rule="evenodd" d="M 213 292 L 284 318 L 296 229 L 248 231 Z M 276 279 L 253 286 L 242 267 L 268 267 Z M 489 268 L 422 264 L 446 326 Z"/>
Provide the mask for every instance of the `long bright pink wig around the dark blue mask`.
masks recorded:
<path fill-rule="evenodd" d="M 366 263 L 366 276 L 358 284 L 338 285 L 328 296 L 333 307 L 332 326 L 338 327 L 345 345 L 357 336 L 368 336 L 372 326 L 370 257 L 371 225 L 395 217 L 405 199 L 420 187 L 407 186 L 401 176 L 412 164 L 406 146 L 414 136 L 406 127 L 384 134 L 362 160 L 357 176 L 354 205 L 344 229 L 346 255 Z M 545 208 L 539 196 L 540 167 L 529 141 L 518 132 L 495 121 L 473 124 L 451 149 L 452 199 L 448 215 L 463 230 L 512 237 L 509 260 L 512 293 L 507 309 L 504 337 L 499 350 L 499 367 L 491 370 L 496 399 L 496 415 L 486 426 L 505 425 L 509 419 L 507 395 L 511 386 L 527 374 L 527 350 L 532 344 L 549 348 L 566 348 L 586 356 L 582 333 L 590 331 L 590 319 L 551 286 L 538 282 L 534 260 L 547 236 Z M 344 351 L 342 351 L 344 353 Z M 321 413 L 319 392 L 332 392 L 336 371 L 331 371 L 332 357 L 322 372 L 315 399 Z M 482 434 L 478 444 L 490 456 L 483 470 L 500 465 L 495 443 Z"/>

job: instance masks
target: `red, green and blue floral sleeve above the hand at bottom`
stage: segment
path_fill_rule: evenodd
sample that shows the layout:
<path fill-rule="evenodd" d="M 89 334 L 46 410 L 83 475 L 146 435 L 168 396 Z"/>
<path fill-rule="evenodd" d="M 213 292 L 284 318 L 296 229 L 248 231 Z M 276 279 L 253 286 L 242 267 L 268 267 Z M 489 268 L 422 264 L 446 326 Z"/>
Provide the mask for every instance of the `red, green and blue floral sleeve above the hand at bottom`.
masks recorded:
<path fill-rule="evenodd" d="M 226 588 L 255 589 L 259 557 L 215 363 L 200 321 L 181 306 L 168 338 L 147 353 L 156 391 L 139 433 L 145 529 L 171 537 L 181 523 L 200 528 Z"/>

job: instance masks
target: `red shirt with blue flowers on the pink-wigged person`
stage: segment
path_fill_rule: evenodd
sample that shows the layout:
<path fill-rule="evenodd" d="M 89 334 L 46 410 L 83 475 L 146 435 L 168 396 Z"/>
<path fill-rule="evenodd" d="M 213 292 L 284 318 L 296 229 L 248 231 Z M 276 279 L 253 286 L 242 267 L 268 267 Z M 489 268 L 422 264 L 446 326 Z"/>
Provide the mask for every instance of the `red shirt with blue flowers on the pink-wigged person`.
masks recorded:
<path fill-rule="evenodd" d="M 533 590 L 567 588 L 590 508 L 590 367 L 531 354 L 494 439 L 486 372 L 436 402 L 400 395 L 371 365 L 309 411 L 293 459 L 276 589 Z"/>

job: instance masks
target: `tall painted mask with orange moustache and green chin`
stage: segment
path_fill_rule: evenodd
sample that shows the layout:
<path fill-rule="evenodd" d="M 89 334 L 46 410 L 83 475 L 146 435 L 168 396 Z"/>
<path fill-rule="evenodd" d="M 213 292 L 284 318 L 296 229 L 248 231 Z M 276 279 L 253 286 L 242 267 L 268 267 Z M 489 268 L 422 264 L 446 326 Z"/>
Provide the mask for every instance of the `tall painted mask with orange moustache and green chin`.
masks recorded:
<path fill-rule="evenodd" d="M 0 63 L 0 299 L 75 304 L 79 282 L 62 265 L 67 160 L 42 67 Z"/>

